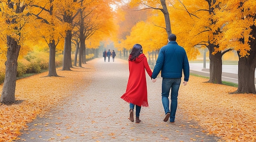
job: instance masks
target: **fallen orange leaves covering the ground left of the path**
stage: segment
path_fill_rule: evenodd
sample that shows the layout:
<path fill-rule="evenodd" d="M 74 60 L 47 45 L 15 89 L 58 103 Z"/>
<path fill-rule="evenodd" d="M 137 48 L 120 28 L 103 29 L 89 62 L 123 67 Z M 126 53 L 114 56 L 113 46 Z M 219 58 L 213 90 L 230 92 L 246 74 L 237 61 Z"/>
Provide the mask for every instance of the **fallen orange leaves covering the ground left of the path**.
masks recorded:
<path fill-rule="evenodd" d="M 88 71 L 88 68 L 94 70 L 92 64 L 87 64 L 86 69 L 72 68 L 72 70 L 84 72 Z M 20 129 L 27 127 L 26 123 L 34 120 L 36 116 L 40 117 L 40 114 L 44 114 L 67 96 L 74 94 L 74 90 L 68 88 L 79 87 L 76 86 L 77 81 L 83 86 L 90 85 L 90 74 L 93 71 L 86 73 L 87 77 L 83 73 L 71 72 L 57 70 L 59 76 L 65 77 L 43 77 L 47 76 L 47 72 L 44 72 L 17 80 L 16 100 L 20 103 L 0 105 L 0 142 L 11 142 L 20 134 Z"/>

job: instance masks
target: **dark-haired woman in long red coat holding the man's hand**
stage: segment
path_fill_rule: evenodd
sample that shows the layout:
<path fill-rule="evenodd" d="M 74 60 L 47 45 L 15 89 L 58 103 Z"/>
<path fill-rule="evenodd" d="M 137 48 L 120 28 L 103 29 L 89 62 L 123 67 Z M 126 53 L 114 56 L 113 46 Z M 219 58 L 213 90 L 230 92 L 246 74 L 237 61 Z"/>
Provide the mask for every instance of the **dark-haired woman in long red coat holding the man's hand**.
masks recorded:
<path fill-rule="evenodd" d="M 136 105 L 136 123 L 139 123 L 139 113 L 141 106 L 148 107 L 148 92 L 146 83 L 146 73 L 152 76 L 152 71 L 148 66 L 146 56 L 142 53 L 142 46 L 135 44 L 132 47 L 132 52 L 129 56 L 129 79 L 126 87 L 126 92 L 122 99 L 130 103 L 130 121 L 134 121 L 133 109 Z"/>

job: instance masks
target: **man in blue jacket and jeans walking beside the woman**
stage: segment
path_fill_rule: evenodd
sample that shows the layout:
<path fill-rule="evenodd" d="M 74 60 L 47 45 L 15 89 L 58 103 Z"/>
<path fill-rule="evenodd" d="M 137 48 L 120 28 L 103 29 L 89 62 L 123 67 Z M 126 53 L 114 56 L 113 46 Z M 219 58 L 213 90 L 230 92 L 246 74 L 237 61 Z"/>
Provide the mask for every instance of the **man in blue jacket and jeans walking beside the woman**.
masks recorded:
<path fill-rule="evenodd" d="M 189 61 L 186 51 L 176 42 L 176 35 L 168 36 L 168 44 L 163 46 L 153 70 L 152 79 L 155 79 L 161 70 L 162 80 L 162 103 L 165 111 L 164 121 L 174 123 L 177 109 L 177 97 L 182 78 L 182 70 L 184 73 L 184 82 L 186 85 L 189 81 Z M 152 80 L 154 81 L 154 80 Z M 171 111 L 169 109 L 169 93 L 171 90 Z"/>

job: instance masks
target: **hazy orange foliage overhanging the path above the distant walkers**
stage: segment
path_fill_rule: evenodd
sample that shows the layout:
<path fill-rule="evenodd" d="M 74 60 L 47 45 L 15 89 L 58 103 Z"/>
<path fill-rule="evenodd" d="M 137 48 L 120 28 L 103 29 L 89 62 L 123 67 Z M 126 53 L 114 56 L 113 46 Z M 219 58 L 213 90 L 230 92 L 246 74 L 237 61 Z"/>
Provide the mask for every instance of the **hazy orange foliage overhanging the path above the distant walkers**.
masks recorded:
<path fill-rule="evenodd" d="M 98 0 L 91 6 L 84 6 L 84 15 L 90 13 L 84 19 L 85 25 L 89 25 L 84 32 L 88 36 L 85 40 L 86 48 L 98 48 L 100 41 L 108 41 L 110 35 L 115 33 L 114 15 L 109 2 Z M 90 30 L 90 25 L 94 27 L 92 30 Z"/>

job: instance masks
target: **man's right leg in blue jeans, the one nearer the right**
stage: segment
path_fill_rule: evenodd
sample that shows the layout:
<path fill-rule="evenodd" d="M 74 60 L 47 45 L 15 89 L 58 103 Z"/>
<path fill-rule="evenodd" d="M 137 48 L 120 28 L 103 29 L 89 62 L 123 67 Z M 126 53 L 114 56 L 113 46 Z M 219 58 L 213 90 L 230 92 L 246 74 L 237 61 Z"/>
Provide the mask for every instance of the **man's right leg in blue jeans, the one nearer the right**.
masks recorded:
<path fill-rule="evenodd" d="M 178 104 L 178 92 L 180 88 L 180 82 L 181 79 L 174 79 L 173 85 L 171 87 L 171 116 L 170 116 L 170 122 L 174 122 L 175 120 L 175 114 L 177 110 L 177 104 Z"/>

